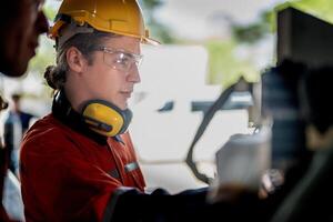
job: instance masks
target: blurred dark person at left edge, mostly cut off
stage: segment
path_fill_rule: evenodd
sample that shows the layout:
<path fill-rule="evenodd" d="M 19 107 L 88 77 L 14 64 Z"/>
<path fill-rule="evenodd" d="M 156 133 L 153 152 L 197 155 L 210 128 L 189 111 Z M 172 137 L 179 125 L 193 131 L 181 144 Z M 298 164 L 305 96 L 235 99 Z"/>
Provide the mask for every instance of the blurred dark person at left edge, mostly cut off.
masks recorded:
<path fill-rule="evenodd" d="M 39 34 L 48 30 L 41 11 L 42 0 L 2 1 L 0 9 L 0 72 L 7 77 L 21 77 L 34 56 Z M 2 104 L 1 104 L 2 107 Z M 9 153 L 0 149 L 0 200 Z M 9 221 L 1 204 L 0 221 Z"/>

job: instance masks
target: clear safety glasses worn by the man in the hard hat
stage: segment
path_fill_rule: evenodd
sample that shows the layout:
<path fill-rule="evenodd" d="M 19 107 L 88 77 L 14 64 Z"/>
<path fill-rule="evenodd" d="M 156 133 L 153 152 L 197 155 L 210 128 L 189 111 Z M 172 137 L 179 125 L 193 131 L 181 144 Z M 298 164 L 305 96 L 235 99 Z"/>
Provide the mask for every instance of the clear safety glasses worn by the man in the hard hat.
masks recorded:
<path fill-rule="evenodd" d="M 105 64 L 124 73 L 129 73 L 133 64 L 139 68 L 143 59 L 142 54 L 134 54 L 121 49 L 100 47 L 95 50 L 104 52 L 103 60 Z"/>

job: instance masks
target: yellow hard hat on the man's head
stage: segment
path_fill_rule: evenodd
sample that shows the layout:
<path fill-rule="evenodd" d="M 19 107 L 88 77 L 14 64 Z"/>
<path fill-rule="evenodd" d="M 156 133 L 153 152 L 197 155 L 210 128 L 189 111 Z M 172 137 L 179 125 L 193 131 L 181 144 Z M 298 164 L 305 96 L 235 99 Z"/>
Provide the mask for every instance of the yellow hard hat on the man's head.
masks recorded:
<path fill-rule="evenodd" d="M 149 38 L 137 0 L 63 0 L 49 37 L 59 37 L 60 29 L 71 21 L 81 27 L 88 23 L 99 31 L 134 37 L 143 43 L 158 43 Z"/>

